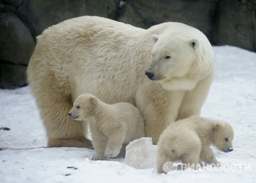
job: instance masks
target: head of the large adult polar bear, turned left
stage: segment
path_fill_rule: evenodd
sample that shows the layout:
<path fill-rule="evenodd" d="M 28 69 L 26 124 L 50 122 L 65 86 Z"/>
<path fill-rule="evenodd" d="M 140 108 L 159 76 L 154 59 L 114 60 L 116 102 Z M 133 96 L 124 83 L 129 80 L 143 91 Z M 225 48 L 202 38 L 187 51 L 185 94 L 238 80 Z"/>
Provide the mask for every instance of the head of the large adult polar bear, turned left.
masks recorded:
<path fill-rule="evenodd" d="M 199 30 L 183 26 L 152 39 L 152 60 L 145 74 L 164 89 L 192 90 L 213 71 L 212 47 Z"/>

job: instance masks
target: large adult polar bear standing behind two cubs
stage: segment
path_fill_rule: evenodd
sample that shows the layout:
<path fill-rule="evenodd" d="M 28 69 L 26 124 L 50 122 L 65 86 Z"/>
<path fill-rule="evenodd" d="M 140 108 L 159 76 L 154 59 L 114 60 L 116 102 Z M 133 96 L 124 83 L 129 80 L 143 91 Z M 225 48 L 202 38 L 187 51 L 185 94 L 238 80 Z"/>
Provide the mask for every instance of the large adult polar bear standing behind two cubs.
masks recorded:
<path fill-rule="evenodd" d="M 80 94 L 134 104 L 156 144 L 168 124 L 200 113 L 213 68 L 212 47 L 193 27 L 168 22 L 145 30 L 83 16 L 38 36 L 27 74 L 48 147 L 91 147 L 87 127 L 67 115 Z"/>

